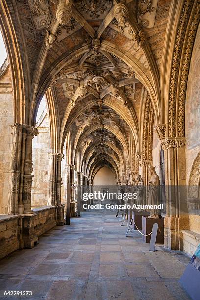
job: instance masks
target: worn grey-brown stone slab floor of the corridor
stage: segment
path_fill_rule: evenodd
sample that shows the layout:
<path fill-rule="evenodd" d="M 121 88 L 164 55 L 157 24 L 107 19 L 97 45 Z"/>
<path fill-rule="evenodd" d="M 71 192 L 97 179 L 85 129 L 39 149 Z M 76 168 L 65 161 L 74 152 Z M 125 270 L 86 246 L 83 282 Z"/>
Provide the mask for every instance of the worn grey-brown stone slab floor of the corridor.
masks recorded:
<path fill-rule="evenodd" d="M 149 244 L 113 214 L 85 212 L 70 226 L 55 227 L 33 249 L 0 262 L 0 299 L 186 300 L 178 282 L 189 258 Z M 4 291 L 32 296 L 4 297 Z"/>

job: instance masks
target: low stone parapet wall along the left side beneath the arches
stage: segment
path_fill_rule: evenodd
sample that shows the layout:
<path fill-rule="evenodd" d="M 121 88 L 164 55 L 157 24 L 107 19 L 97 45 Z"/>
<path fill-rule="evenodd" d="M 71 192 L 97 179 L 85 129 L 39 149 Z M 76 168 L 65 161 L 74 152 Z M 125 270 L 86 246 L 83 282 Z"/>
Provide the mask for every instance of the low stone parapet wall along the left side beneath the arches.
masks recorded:
<path fill-rule="evenodd" d="M 64 225 L 64 205 L 34 209 L 32 215 L 1 215 L 0 259 L 22 248 L 33 248 L 38 237 Z"/>

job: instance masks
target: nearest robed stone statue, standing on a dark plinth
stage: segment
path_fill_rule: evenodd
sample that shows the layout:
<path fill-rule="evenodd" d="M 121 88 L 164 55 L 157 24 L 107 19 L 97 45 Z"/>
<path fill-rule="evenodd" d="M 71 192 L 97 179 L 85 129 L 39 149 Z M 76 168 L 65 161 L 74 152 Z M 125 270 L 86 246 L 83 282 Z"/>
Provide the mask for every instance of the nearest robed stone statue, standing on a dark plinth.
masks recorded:
<path fill-rule="evenodd" d="M 149 166 L 149 188 L 148 188 L 148 199 L 150 205 L 158 205 L 158 186 L 159 186 L 159 177 L 155 171 L 155 167 Z M 150 210 L 150 216 L 148 218 L 158 219 L 159 215 L 156 209 Z"/>

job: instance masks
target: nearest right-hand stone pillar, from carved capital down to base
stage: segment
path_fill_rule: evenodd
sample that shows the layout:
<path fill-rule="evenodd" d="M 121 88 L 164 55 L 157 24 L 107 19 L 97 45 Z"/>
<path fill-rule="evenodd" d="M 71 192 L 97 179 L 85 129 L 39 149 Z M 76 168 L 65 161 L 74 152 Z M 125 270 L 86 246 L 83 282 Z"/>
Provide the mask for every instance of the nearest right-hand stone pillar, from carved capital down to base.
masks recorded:
<path fill-rule="evenodd" d="M 181 193 L 186 187 L 185 139 L 161 140 L 165 159 L 166 216 L 164 244 L 171 250 L 183 250 L 182 230 L 189 229 L 189 217 Z M 182 186 L 182 187 L 181 187 Z M 184 206 L 184 207 L 183 207 Z"/>

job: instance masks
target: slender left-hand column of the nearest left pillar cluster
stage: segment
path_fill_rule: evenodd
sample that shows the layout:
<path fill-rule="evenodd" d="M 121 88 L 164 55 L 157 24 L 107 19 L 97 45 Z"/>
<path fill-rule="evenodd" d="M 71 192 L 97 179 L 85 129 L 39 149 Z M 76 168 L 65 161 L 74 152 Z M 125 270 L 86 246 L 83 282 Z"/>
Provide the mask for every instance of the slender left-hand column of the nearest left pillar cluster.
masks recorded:
<path fill-rule="evenodd" d="M 12 157 L 10 162 L 10 195 L 9 195 L 9 213 L 18 214 L 18 200 L 20 193 L 20 164 L 21 164 L 21 146 L 22 146 L 22 128 L 21 124 L 11 125 L 12 132 Z"/>

